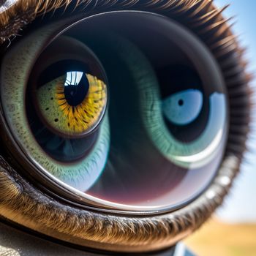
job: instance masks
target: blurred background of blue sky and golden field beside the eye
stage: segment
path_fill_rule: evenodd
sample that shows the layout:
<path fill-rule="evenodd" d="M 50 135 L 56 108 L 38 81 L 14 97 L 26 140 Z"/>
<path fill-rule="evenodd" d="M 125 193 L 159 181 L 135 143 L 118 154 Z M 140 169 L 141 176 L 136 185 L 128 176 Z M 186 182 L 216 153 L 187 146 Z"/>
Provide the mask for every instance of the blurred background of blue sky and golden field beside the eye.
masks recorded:
<path fill-rule="evenodd" d="M 215 0 L 218 7 L 230 4 L 224 15 L 234 16 L 233 32 L 240 44 L 247 48 L 246 59 L 249 72 L 256 76 L 256 1 L 255 0 Z M 256 90 L 256 79 L 252 80 Z M 255 98 L 256 102 L 256 98 Z M 254 123 L 256 124 L 256 110 Z M 253 124 L 252 129 L 256 125 Z M 197 255 L 255 256 L 256 255 L 256 129 L 249 138 L 249 152 L 242 170 L 214 218 L 197 233 L 189 237 L 187 246 Z"/>

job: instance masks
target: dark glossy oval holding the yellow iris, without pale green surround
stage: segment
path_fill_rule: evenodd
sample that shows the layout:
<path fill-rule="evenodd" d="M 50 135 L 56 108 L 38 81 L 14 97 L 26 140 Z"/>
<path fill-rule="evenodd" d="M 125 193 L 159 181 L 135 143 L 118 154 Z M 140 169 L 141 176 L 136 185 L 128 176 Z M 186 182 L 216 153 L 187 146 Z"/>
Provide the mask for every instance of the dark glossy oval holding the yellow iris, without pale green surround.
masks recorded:
<path fill-rule="evenodd" d="M 42 124 L 61 138 L 89 137 L 105 114 L 103 69 L 91 50 L 71 37 L 56 39 L 41 54 L 26 90 L 29 120 L 36 118 L 35 108 Z M 38 132 L 34 130 L 36 138 L 42 137 Z"/>

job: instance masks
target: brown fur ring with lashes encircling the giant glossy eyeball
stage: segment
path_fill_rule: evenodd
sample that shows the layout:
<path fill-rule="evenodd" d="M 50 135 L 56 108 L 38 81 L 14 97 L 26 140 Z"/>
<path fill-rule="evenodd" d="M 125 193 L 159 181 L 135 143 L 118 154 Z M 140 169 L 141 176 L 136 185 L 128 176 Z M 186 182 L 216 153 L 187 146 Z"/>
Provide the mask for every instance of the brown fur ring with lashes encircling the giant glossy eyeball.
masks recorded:
<path fill-rule="evenodd" d="M 225 159 L 217 177 L 197 200 L 178 211 L 156 217 L 121 217 L 117 214 L 99 214 L 67 206 L 43 194 L 28 184 L 15 170 L 0 161 L 0 214 L 8 219 L 51 234 L 56 238 L 86 246 L 98 246 L 116 251 L 143 251 L 160 249 L 176 243 L 196 230 L 222 203 L 230 183 L 238 173 L 248 134 L 250 105 L 249 76 L 243 50 L 224 18 L 208 0 L 170 1 L 77 1 L 76 12 L 103 10 L 148 10 L 177 20 L 193 31 L 217 59 L 225 78 L 230 107 L 230 132 Z M 31 22 L 37 15 L 64 8 L 70 0 L 20 0 L 0 15 L 1 40 L 18 33 L 23 18 Z M 9 24 L 15 24 L 6 31 Z M 5 33 L 5 34 L 4 34 Z M 243 115 L 241 116 L 241 112 Z M 98 243 L 98 244 L 94 244 Z"/>

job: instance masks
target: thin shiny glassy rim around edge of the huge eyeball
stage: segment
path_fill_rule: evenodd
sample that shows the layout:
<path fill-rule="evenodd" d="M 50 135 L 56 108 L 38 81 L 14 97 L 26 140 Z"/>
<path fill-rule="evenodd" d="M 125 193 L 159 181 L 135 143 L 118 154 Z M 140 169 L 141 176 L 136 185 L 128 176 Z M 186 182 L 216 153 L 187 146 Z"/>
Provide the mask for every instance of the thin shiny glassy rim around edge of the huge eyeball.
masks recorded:
<path fill-rule="evenodd" d="M 50 44 L 50 42 L 53 42 L 55 39 L 57 39 L 59 36 L 61 36 L 61 34 L 64 34 L 66 31 L 68 31 L 72 27 L 74 27 L 80 23 L 83 23 L 84 21 L 89 20 L 91 18 L 95 18 L 95 17 L 97 18 L 100 16 L 107 15 L 107 18 L 108 18 L 108 16 L 110 15 L 110 18 L 111 18 L 111 15 L 113 15 L 113 14 L 114 15 L 131 15 L 132 14 L 132 15 L 135 15 L 135 18 L 136 18 L 136 15 L 138 15 L 138 18 L 141 18 L 141 14 L 143 14 L 144 15 L 143 18 L 148 19 L 148 20 L 150 20 L 151 18 L 153 18 L 153 19 L 161 18 L 162 20 L 167 20 L 167 18 L 165 16 L 159 15 L 157 13 L 144 12 L 144 11 L 138 12 L 135 10 L 135 11 L 102 12 L 97 15 L 91 15 L 86 18 L 78 17 L 77 18 L 78 20 L 75 21 L 75 23 L 71 23 L 69 26 L 66 26 L 64 29 L 63 29 L 63 27 L 64 27 L 63 23 L 56 23 L 53 26 L 54 29 L 49 30 L 48 27 L 45 28 L 44 31 L 46 31 L 48 34 L 53 34 L 53 36 L 45 39 L 45 41 L 47 43 L 43 44 L 43 47 L 40 47 L 38 56 L 40 53 L 43 52 L 43 50 L 45 48 L 47 48 L 47 46 Z M 168 19 L 168 21 L 169 20 L 170 19 Z M 165 25 L 165 23 L 163 25 Z M 226 113 L 226 117 L 228 118 L 225 83 L 222 79 L 222 74 L 219 70 L 219 67 L 217 66 L 216 61 L 214 60 L 213 56 L 211 56 L 211 52 L 206 47 L 204 47 L 203 43 L 200 42 L 200 40 L 197 39 L 197 37 L 195 37 L 187 29 L 184 29 L 182 26 L 180 26 L 175 20 L 170 20 L 170 22 L 168 22 L 166 24 L 166 26 L 170 26 L 169 30 L 173 31 L 173 33 L 176 33 L 176 35 L 178 37 L 178 42 L 181 42 L 182 39 L 187 39 L 187 40 L 184 40 L 184 42 L 182 41 L 182 45 L 185 45 L 185 48 L 187 50 L 184 50 L 184 52 L 187 54 L 190 61 L 192 61 L 192 64 L 195 64 L 195 68 L 197 68 L 196 65 L 200 66 L 202 64 L 200 63 L 200 61 L 193 59 L 193 55 L 195 55 L 195 53 L 193 53 L 190 50 L 188 45 L 191 45 L 194 50 L 197 50 L 198 54 L 203 52 L 202 54 L 199 55 L 200 59 L 202 61 L 204 61 L 205 64 L 207 64 L 206 67 L 208 66 L 208 70 L 209 71 L 211 70 L 211 75 L 208 77 L 211 77 L 214 80 L 209 79 L 209 78 L 205 78 L 205 79 L 209 80 L 211 82 L 211 84 L 215 84 L 214 83 L 215 80 L 219 81 L 219 83 L 217 83 L 216 87 L 218 88 L 218 91 L 223 91 L 224 97 L 226 99 L 225 113 Z M 39 32 L 42 33 L 41 31 L 39 31 Z M 177 39 L 171 38 L 170 40 L 171 40 L 171 42 L 175 42 L 175 44 L 178 45 Z M 192 40 L 193 43 L 190 43 L 190 40 Z M 189 44 L 187 45 L 186 42 L 189 42 Z M 34 59 L 34 61 L 31 61 L 31 63 L 29 64 L 30 69 L 28 70 L 28 74 L 30 74 L 31 70 L 33 70 L 33 68 L 34 68 L 33 65 L 34 65 L 34 63 L 37 62 L 38 56 L 37 56 L 37 58 Z M 207 59 L 207 61 L 206 61 L 206 59 Z M 203 75 L 204 75 L 204 72 L 201 69 L 197 69 L 197 72 L 199 72 L 199 74 L 203 73 Z M 204 75 L 204 77 L 206 77 L 206 75 Z M 203 78 L 201 78 L 201 79 L 203 79 Z M 24 86 L 23 91 L 26 91 L 26 86 Z M 207 91 L 207 93 L 209 94 L 209 91 Z M 26 113 L 24 113 L 24 115 L 26 116 Z M 6 119 L 7 118 L 5 117 L 5 120 Z M 8 123 L 8 121 L 7 121 L 7 123 Z M 8 126 L 9 126 L 9 124 L 7 124 L 7 127 Z M 225 130 L 225 134 L 223 135 L 223 138 L 222 138 L 223 139 L 222 146 L 224 146 L 224 147 L 225 147 L 225 142 L 227 140 L 227 135 L 226 135 L 226 131 L 228 129 L 227 127 L 228 127 L 228 124 L 225 124 L 225 127 L 223 127 L 223 129 Z M 193 200 L 195 200 L 197 197 L 199 197 L 207 189 L 207 187 L 211 184 L 211 181 L 217 175 L 217 170 L 216 170 L 215 174 L 212 175 L 211 180 L 208 181 L 207 184 L 204 184 L 201 189 L 199 189 L 197 192 L 195 192 L 193 195 L 191 195 L 187 199 L 182 200 L 176 204 L 171 204 L 171 205 L 166 204 L 163 206 L 135 206 L 135 205 L 122 204 L 122 203 L 114 203 L 109 200 L 102 200 L 99 197 L 94 197 L 93 195 L 89 195 L 87 193 L 80 192 L 78 189 L 75 189 L 74 187 L 71 187 L 69 184 L 66 184 L 64 181 L 61 181 L 59 178 L 56 178 L 56 176 L 53 176 L 51 173 L 49 173 L 47 170 L 45 170 L 45 168 L 43 166 L 41 167 L 40 163 L 37 162 L 37 160 L 35 160 L 35 159 L 33 159 L 33 157 L 31 157 L 31 154 L 26 151 L 26 147 L 23 147 L 22 143 L 20 143 L 20 141 L 19 141 L 19 138 L 17 138 L 18 135 L 15 135 L 14 132 L 12 132 L 12 129 L 10 129 L 10 134 L 12 134 L 12 143 L 15 143 L 15 145 L 18 146 L 17 153 L 21 154 L 22 157 L 20 156 L 20 158 L 23 159 L 22 162 L 26 165 L 26 168 L 28 168 L 28 170 L 23 170 L 24 175 L 28 176 L 32 181 L 34 181 L 34 179 L 36 179 L 36 181 L 39 181 L 39 184 L 37 184 L 37 186 L 40 189 L 45 190 L 45 192 L 48 192 L 49 195 L 53 195 L 53 197 L 59 198 L 59 200 L 63 200 L 64 202 L 67 202 L 70 205 L 79 206 L 80 208 L 88 208 L 93 211 L 113 212 L 115 214 L 127 214 L 127 215 L 145 215 L 145 216 L 155 215 L 155 214 L 165 214 L 170 211 L 176 211 L 176 209 L 186 206 L 187 204 L 189 204 Z M 222 148 L 222 146 L 221 146 L 221 148 Z M 224 152 L 223 152 L 223 154 L 224 154 Z M 223 158 L 223 154 L 222 154 L 221 158 Z"/>

